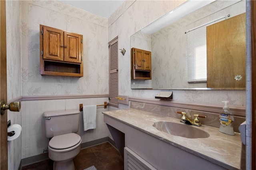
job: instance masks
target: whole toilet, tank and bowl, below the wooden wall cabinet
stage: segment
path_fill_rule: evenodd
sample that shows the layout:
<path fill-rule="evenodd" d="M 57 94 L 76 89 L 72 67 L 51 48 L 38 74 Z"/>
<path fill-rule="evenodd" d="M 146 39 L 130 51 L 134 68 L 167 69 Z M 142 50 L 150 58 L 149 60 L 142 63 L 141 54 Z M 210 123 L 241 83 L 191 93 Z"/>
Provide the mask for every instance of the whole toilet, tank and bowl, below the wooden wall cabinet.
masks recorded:
<path fill-rule="evenodd" d="M 51 138 L 48 154 L 54 170 L 75 170 L 73 158 L 80 152 L 82 141 L 76 134 L 80 111 L 46 111 L 43 117 L 46 137 Z"/>

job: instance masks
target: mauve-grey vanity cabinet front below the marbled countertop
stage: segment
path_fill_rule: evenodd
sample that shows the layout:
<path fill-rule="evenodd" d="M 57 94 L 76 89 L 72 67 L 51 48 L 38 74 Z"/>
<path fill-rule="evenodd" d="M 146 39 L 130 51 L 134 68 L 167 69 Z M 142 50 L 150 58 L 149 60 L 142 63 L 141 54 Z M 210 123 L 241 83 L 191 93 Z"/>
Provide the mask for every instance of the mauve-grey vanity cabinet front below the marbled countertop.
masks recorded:
<path fill-rule="evenodd" d="M 150 135 L 150 132 L 145 133 L 139 128 L 132 127 L 118 119 L 108 116 L 104 112 L 103 114 L 104 122 L 107 124 L 118 150 L 120 150 L 120 154 L 124 157 L 125 170 L 130 169 L 128 168 L 128 165 L 132 159 L 137 160 L 132 161 L 136 166 L 146 165 L 142 166 L 143 168 L 141 169 L 148 170 L 235 169 L 230 166 L 224 168 L 215 160 L 210 162 L 209 160 L 200 157 L 200 154 L 196 154 L 196 152 L 180 149 L 176 147 L 178 144 L 171 145 L 157 137 L 153 137 L 153 135 Z M 132 159 L 129 158 L 129 155 L 126 155 L 127 148 L 132 150 L 133 154 L 130 154 Z M 184 162 L 186 162 L 186 164 L 184 164 Z"/>

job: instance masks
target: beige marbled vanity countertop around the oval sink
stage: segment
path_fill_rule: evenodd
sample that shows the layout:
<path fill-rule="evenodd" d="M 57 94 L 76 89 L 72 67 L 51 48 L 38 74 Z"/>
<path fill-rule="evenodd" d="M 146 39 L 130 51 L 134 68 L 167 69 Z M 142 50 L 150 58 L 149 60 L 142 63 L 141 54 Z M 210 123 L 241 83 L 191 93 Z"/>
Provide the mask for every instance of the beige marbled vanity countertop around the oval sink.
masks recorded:
<path fill-rule="evenodd" d="M 102 113 L 210 162 L 228 169 L 240 169 L 242 142 L 239 133 L 226 135 L 219 132 L 218 128 L 215 127 L 205 125 L 200 127 L 193 126 L 208 132 L 210 137 L 190 139 L 164 133 L 152 126 L 156 121 L 181 123 L 180 119 L 131 108 L 104 111 Z"/>

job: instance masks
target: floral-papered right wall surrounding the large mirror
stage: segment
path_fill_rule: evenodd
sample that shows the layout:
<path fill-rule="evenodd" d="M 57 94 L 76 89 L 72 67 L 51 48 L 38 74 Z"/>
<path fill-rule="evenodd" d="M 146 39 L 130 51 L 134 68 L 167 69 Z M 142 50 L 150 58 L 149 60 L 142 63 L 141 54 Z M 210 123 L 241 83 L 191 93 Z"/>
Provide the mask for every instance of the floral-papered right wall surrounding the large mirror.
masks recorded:
<path fill-rule="evenodd" d="M 108 41 L 118 35 L 118 48 L 130 51 L 130 36 L 176 8 L 184 1 L 125 1 L 109 18 Z M 223 1 L 224 2 L 224 1 Z M 118 58 L 118 90 L 120 95 L 154 98 L 160 90 L 132 90 L 130 80 L 130 53 Z M 173 101 L 202 104 L 220 104 L 230 101 L 233 106 L 245 106 L 245 90 L 172 90 Z"/>

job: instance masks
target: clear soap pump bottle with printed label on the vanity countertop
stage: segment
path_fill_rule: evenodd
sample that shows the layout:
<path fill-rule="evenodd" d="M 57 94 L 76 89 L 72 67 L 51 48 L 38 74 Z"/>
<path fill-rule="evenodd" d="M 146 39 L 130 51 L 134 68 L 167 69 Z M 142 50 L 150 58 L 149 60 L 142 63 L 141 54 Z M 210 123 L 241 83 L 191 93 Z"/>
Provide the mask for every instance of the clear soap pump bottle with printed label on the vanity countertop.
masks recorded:
<path fill-rule="evenodd" d="M 228 135 L 235 135 L 233 129 L 234 123 L 234 115 L 228 108 L 228 101 L 224 102 L 223 110 L 220 111 L 220 129 L 219 131 L 222 133 L 226 133 Z"/>

